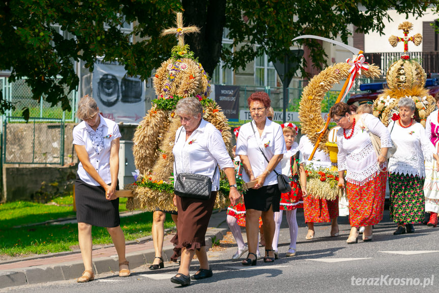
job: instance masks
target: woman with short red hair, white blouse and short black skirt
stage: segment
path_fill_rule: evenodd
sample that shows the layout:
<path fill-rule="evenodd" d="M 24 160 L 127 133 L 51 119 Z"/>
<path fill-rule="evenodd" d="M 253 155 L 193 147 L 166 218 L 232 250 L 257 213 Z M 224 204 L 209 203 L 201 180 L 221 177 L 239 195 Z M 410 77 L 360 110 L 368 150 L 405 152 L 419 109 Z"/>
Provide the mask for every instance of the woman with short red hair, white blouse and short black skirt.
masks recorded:
<path fill-rule="evenodd" d="M 270 108 L 268 94 L 255 92 L 250 95 L 247 102 L 253 121 L 241 126 L 236 154 L 240 156 L 245 170 L 243 180 L 257 182 L 253 188 L 244 193 L 249 254 L 242 264 L 256 265 L 259 217 L 262 218 L 262 227 L 264 227 L 266 251 L 264 261 L 275 260 L 272 247 L 275 231 L 274 212 L 279 211 L 280 191 L 277 175 L 273 170 L 279 174 L 282 172 L 279 163 L 286 153 L 286 146 L 280 125 L 267 118 L 267 110 Z"/>

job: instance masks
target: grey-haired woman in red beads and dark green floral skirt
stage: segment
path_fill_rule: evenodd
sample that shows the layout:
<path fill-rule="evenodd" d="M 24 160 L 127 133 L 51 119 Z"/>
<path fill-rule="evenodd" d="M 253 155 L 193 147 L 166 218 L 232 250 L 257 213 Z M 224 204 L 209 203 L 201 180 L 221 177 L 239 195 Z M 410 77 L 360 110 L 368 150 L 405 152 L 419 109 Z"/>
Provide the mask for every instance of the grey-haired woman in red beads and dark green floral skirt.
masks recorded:
<path fill-rule="evenodd" d="M 398 106 L 399 119 L 388 126 L 398 146 L 389 159 L 390 218 L 398 224 L 394 235 L 413 233 L 413 224 L 424 220 L 424 159 L 431 161 L 434 157 L 439 166 L 439 156 L 424 127 L 413 119 L 416 109 L 413 99 L 400 98 Z"/>

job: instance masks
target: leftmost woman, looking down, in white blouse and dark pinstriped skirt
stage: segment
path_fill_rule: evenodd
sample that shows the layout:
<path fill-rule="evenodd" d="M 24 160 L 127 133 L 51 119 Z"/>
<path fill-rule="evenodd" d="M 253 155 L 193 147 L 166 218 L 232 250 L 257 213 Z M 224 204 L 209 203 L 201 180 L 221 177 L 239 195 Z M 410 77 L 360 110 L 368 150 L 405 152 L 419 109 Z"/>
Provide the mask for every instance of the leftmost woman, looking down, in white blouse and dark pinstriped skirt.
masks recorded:
<path fill-rule="evenodd" d="M 118 124 L 102 117 L 96 101 L 84 96 L 77 116 L 83 120 L 73 129 L 73 144 L 79 158 L 75 182 L 79 248 L 85 271 L 78 282 L 94 280 L 92 226 L 106 227 L 119 256 L 119 276 L 130 275 L 125 257 L 125 236 L 120 226 L 119 198 L 115 196 L 119 172 Z"/>

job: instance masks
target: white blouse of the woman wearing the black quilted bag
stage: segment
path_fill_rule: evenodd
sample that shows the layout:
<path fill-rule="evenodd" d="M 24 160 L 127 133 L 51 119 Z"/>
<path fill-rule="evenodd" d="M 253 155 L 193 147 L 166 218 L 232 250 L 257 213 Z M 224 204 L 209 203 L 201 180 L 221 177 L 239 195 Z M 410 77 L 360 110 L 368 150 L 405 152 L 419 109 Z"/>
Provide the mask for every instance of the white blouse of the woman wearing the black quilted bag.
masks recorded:
<path fill-rule="evenodd" d="M 213 177 L 212 191 L 219 189 L 219 170 L 233 168 L 233 162 L 227 152 L 221 132 L 216 127 L 201 119 L 201 123 L 186 140 L 183 126 L 175 132 L 175 143 L 172 148 L 174 155 L 174 182 L 179 173 L 193 173 Z M 174 183 L 175 184 L 175 183 Z"/>

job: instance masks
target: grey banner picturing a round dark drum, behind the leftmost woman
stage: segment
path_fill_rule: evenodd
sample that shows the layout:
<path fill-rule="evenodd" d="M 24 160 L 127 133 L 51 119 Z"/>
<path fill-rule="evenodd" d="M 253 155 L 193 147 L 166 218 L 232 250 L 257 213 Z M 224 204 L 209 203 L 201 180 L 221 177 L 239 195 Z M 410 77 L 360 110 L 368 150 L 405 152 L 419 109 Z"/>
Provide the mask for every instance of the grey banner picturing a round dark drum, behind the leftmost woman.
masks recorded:
<path fill-rule="evenodd" d="M 92 91 L 102 116 L 115 122 L 139 123 L 145 115 L 145 82 L 126 75 L 118 62 L 98 59 L 94 67 Z"/>

